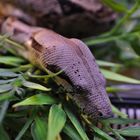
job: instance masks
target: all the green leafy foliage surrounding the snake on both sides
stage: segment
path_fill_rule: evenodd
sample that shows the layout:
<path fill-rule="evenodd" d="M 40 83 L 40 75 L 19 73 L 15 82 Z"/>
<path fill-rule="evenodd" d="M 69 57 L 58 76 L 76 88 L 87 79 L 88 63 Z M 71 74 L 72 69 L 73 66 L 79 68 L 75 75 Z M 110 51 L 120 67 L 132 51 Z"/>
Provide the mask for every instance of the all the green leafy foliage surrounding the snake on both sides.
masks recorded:
<path fill-rule="evenodd" d="M 83 40 L 100 59 L 97 63 L 108 80 L 107 92 L 126 91 L 129 89 L 115 85 L 140 84 L 140 1 L 102 1 L 118 12 L 115 26 L 107 33 Z M 1 140 L 125 140 L 126 136 L 140 136 L 139 126 L 111 128 L 111 124 L 140 122 L 127 118 L 113 105 L 118 117 L 99 120 L 98 124 L 91 122 L 54 81 L 59 73 L 42 72 L 16 56 L 14 47 L 6 47 L 15 42 L 2 35 L 0 40 Z"/>

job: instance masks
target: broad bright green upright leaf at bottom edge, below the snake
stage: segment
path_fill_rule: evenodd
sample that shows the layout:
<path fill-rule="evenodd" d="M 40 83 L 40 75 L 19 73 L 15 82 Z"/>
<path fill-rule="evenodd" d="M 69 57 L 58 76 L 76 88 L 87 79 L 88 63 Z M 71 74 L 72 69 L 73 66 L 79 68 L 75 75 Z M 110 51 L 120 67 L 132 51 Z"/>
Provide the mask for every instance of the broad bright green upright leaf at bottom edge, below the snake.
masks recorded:
<path fill-rule="evenodd" d="M 53 105 L 49 111 L 47 140 L 55 140 L 64 127 L 65 122 L 65 112 L 58 105 Z"/>

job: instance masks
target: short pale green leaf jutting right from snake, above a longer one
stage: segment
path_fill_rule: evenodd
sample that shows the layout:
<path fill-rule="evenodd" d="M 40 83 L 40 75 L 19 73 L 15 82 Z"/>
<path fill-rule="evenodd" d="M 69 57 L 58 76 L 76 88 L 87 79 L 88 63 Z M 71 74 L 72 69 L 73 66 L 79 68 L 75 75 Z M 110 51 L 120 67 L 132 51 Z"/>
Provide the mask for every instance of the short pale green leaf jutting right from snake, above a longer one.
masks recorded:
<path fill-rule="evenodd" d="M 97 60 L 96 62 L 99 66 L 102 66 L 102 67 L 122 67 L 121 64 L 116 64 L 116 63 L 102 61 L 102 60 Z"/>

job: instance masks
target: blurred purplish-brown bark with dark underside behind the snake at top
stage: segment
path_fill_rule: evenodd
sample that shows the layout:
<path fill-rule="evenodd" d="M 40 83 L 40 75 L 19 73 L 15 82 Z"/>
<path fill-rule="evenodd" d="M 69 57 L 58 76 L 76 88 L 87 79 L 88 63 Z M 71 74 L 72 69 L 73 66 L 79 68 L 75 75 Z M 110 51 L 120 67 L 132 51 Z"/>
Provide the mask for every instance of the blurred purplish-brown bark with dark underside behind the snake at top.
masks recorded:
<path fill-rule="evenodd" d="M 116 18 L 116 14 L 100 0 L 1 0 L 2 2 L 22 9 L 18 17 L 23 17 L 27 23 L 53 29 L 68 37 L 83 38 L 99 34 L 108 30 Z M 15 15 L 15 11 L 13 13 Z"/>

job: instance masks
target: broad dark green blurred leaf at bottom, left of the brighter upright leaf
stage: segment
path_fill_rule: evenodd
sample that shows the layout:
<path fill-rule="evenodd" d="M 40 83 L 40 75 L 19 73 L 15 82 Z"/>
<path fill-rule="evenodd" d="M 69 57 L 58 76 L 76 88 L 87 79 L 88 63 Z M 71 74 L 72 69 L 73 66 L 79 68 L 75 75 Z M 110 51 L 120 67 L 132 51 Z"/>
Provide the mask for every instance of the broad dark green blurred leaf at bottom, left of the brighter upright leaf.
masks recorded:
<path fill-rule="evenodd" d="M 31 133 L 34 140 L 46 140 L 47 138 L 47 120 L 36 117 L 32 124 Z"/>

